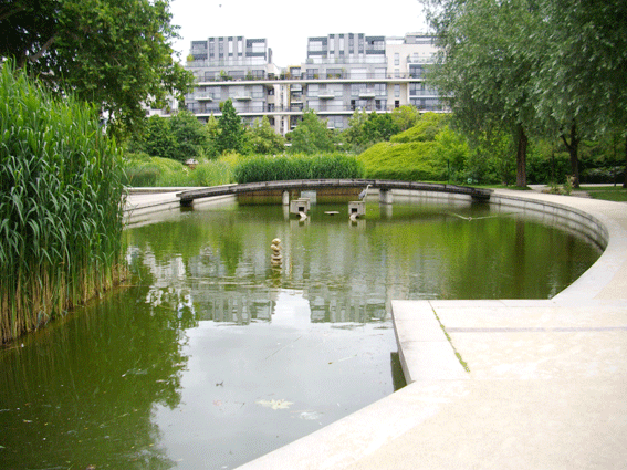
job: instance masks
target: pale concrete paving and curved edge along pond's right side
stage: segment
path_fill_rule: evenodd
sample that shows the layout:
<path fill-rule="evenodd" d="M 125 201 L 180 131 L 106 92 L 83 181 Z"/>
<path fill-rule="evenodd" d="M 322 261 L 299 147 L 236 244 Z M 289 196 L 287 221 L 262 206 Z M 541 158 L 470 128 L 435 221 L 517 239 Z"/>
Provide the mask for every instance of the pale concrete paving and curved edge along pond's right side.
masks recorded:
<path fill-rule="evenodd" d="M 557 215 L 605 250 L 551 300 L 393 301 L 409 385 L 240 469 L 624 468 L 627 205 L 512 190 L 490 203 Z"/>

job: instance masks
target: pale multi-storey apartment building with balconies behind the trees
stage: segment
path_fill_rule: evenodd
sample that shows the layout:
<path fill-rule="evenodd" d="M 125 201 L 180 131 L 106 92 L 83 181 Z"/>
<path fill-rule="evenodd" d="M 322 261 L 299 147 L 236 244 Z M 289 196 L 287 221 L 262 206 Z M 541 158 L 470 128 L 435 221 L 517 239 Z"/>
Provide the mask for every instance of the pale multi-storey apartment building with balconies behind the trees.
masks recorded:
<path fill-rule="evenodd" d="M 438 96 L 424 76 L 435 53 L 432 36 L 426 34 L 328 34 L 309 38 L 305 61 L 281 70 L 272 63 L 265 39 L 208 38 L 191 43 L 187 69 L 197 85 L 186 106 L 206 121 L 219 116 L 219 104 L 231 98 L 244 123 L 268 116 L 282 135 L 306 109 L 335 129 L 347 128 L 357 109 L 387 113 L 411 104 L 439 111 Z"/>

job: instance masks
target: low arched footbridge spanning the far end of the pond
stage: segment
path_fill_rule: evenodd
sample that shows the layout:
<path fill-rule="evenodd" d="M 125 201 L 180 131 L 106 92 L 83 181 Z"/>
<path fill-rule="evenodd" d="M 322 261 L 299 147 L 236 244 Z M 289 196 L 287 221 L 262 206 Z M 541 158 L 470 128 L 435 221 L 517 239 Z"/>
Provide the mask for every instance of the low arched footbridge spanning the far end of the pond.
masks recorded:
<path fill-rule="evenodd" d="M 382 192 L 393 189 L 414 191 L 450 192 L 470 196 L 474 200 L 487 201 L 491 189 L 469 186 L 443 185 L 433 182 L 395 181 L 386 179 L 294 179 L 289 181 L 247 182 L 242 185 L 223 185 L 177 192 L 181 206 L 191 206 L 195 199 L 227 195 L 251 195 L 268 191 L 316 190 L 325 188 L 376 188 Z M 383 198 L 382 198 L 383 200 Z"/>

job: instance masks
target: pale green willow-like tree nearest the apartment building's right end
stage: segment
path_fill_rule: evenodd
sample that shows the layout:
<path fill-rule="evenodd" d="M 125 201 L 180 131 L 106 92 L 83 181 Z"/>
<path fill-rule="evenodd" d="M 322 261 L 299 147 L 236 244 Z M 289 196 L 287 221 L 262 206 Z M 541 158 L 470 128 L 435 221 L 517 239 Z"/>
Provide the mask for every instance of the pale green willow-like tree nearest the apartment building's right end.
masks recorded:
<path fill-rule="evenodd" d="M 529 36 L 537 15 L 527 0 L 442 0 L 431 13 L 441 48 L 429 74 L 466 132 L 502 128 L 516 143 L 516 186 L 526 186 L 527 133 L 537 70 Z"/>

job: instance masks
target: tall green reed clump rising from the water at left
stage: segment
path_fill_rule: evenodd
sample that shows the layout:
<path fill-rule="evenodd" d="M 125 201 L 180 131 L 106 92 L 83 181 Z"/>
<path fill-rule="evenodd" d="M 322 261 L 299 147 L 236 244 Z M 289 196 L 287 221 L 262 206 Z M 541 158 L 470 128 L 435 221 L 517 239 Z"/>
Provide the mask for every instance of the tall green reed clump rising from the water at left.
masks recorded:
<path fill-rule="evenodd" d="M 0 70 L 0 343 L 118 283 L 121 154 L 95 109 Z"/>

